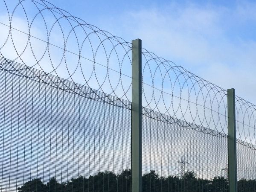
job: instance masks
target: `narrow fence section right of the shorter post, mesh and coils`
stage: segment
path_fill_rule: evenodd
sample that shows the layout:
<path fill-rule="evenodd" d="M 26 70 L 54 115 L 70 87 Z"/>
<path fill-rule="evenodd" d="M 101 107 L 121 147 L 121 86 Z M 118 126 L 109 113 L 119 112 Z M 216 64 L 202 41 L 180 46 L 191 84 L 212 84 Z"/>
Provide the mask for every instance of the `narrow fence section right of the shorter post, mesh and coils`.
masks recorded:
<path fill-rule="evenodd" d="M 237 179 L 239 192 L 256 191 L 256 106 L 236 96 Z"/>

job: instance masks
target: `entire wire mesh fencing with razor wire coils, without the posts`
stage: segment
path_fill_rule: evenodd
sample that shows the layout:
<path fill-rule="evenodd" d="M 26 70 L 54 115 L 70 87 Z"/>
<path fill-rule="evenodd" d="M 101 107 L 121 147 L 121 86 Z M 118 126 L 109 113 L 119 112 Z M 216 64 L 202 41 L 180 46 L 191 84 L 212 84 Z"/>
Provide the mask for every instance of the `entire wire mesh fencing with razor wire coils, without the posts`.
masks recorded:
<path fill-rule="evenodd" d="M 44 0 L 0 11 L 0 191 L 131 191 L 131 43 Z M 227 191 L 227 91 L 141 56 L 142 190 Z M 236 96 L 239 192 L 256 191 L 255 111 Z"/>

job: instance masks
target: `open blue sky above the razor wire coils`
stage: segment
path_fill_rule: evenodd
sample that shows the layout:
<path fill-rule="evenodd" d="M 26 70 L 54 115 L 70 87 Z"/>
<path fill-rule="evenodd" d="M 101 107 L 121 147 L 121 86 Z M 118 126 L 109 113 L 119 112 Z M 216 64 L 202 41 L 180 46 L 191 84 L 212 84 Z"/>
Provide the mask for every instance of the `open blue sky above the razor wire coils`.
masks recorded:
<path fill-rule="evenodd" d="M 255 103 L 256 3 L 52 0 L 87 23 L 131 41 Z"/>

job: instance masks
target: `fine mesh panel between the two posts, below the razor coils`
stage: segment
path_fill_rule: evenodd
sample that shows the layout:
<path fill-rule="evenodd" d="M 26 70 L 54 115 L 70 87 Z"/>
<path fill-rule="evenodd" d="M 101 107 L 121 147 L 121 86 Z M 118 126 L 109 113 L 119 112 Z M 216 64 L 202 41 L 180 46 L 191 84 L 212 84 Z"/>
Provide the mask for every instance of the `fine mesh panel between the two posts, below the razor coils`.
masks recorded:
<path fill-rule="evenodd" d="M 143 191 L 227 190 L 227 137 L 147 112 L 143 115 Z"/>

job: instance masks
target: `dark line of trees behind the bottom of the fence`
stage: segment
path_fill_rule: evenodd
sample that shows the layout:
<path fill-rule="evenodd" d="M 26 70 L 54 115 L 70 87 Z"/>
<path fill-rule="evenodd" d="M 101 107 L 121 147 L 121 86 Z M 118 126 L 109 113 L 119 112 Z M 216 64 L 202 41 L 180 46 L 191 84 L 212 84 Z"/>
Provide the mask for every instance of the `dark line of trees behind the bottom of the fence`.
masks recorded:
<path fill-rule="evenodd" d="M 255 192 L 256 180 L 238 181 L 239 192 Z M 196 177 L 195 172 L 186 172 L 182 177 L 160 177 L 154 170 L 143 175 L 143 192 L 227 192 L 228 180 L 214 177 L 212 180 Z M 18 192 L 131 192 L 131 169 L 119 175 L 111 171 L 98 172 L 88 178 L 79 176 L 59 183 L 55 177 L 43 183 L 33 178 L 18 187 Z"/>

